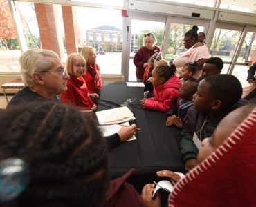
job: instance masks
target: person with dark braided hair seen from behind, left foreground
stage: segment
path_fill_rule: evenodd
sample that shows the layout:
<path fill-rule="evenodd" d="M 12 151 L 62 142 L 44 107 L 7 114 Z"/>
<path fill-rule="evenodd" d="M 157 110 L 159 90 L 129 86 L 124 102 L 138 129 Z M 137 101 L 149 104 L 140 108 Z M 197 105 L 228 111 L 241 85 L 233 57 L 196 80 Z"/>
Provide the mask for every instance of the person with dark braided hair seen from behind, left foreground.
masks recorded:
<path fill-rule="evenodd" d="M 109 185 L 107 146 L 87 114 L 48 101 L 3 110 L 0 122 L 0 161 L 21 159 L 29 175 L 24 192 L 6 202 L 0 197 L 0 206 L 143 206 L 125 183 L 131 172 Z M 17 184 L 12 178 L 0 177 L 0 195 L 6 182 Z"/>

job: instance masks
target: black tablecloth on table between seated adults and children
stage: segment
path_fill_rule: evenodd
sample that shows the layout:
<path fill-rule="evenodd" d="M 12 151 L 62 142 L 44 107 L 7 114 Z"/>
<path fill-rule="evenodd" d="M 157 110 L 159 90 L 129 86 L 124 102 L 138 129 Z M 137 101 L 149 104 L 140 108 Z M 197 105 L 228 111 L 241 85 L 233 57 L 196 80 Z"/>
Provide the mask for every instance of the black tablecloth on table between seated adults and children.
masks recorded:
<path fill-rule="evenodd" d="M 183 171 L 179 150 L 180 130 L 165 126 L 165 113 L 143 110 L 140 99 L 143 99 L 143 88 L 127 87 L 125 82 L 104 82 L 98 111 L 120 107 L 120 104 L 128 102 L 128 108 L 136 117 L 134 123 L 142 129 L 137 130 L 136 140 L 110 150 L 111 176 L 123 175 L 131 168 L 135 168 L 135 175 L 155 174 L 157 170 Z"/>

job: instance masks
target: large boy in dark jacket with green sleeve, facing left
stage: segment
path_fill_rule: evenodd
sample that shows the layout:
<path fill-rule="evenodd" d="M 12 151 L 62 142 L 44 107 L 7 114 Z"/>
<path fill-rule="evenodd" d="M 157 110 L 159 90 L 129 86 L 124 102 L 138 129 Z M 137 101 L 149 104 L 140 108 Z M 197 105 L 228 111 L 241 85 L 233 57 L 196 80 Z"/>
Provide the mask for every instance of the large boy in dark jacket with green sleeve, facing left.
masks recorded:
<path fill-rule="evenodd" d="M 241 93 L 241 83 L 233 75 L 210 75 L 199 83 L 181 132 L 181 156 L 187 170 L 196 166 L 201 141 L 210 137 L 219 121 L 234 109 Z"/>

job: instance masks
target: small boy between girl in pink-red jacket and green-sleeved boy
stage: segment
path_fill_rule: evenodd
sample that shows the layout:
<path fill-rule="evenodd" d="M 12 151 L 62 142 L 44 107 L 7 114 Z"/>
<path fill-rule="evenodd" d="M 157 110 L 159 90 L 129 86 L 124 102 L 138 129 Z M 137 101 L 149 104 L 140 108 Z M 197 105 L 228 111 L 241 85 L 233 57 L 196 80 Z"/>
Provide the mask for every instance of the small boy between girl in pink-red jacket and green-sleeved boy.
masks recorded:
<path fill-rule="evenodd" d="M 182 128 L 183 120 L 190 106 L 193 105 L 192 97 L 197 90 L 196 79 L 190 77 L 179 90 L 179 97 L 174 99 L 172 109 L 167 112 L 166 126 L 175 125 Z"/>

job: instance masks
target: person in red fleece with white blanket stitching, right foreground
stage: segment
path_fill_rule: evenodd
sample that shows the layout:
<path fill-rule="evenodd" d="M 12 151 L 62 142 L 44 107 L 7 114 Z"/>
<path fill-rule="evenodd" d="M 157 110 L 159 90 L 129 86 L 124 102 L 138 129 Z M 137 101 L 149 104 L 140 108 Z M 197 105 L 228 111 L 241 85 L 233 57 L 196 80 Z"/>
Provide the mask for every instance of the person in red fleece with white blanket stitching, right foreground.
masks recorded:
<path fill-rule="evenodd" d="M 169 206 L 255 206 L 256 99 L 230 112 L 211 137 L 203 140 L 198 165 L 183 179 L 169 170 L 159 177 L 178 182 Z M 160 194 L 152 199 L 155 185 L 143 188 L 145 206 L 158 207 Z"/>

